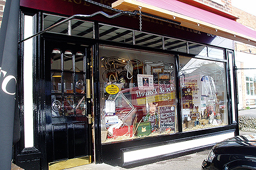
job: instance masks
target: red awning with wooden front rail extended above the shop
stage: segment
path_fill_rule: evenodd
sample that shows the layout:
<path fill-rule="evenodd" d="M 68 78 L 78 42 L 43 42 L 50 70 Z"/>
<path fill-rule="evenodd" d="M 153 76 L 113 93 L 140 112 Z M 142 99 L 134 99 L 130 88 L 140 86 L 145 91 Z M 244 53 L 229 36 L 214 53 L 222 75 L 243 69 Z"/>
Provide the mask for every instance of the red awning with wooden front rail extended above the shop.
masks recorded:
<path fill-rule="evenodd" d="M 256 46 L 256 31 L 227 17 L 177 0 L 119 0 L 112 4 L 120 10 L 139 10 L 181 22 L 181 26 Z"/>

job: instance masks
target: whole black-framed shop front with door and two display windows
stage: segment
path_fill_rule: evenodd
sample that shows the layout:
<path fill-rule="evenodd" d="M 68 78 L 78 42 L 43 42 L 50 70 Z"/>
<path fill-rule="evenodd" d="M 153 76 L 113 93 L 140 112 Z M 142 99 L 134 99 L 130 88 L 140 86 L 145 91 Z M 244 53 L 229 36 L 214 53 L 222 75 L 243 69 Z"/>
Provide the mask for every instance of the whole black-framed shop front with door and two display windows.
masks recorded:
<path fill-rule="evenodd" d="M 239 134 L 233 40 L 89 1 L 20 6 L 17 165 L 134 167 Z"/>

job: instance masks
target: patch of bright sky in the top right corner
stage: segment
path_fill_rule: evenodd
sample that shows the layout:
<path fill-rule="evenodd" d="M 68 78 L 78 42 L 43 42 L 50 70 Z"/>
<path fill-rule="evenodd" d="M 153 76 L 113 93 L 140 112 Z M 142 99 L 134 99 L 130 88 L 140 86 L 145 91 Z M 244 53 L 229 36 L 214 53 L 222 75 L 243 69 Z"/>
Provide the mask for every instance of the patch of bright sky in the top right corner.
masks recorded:
<path fill-rule="evenodd" d="M 256 16 L 255 0 L 231 0 L 232 6 Z"/>

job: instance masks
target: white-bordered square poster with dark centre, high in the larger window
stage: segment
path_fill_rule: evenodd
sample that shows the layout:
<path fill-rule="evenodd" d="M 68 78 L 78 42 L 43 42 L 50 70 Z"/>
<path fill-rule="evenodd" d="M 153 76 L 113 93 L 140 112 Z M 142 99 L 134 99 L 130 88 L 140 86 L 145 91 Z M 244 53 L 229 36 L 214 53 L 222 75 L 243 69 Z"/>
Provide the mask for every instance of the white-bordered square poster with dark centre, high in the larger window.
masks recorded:
<path fill-rule="evenodd" d="M 154 89 L 153 75 L 138 75 L 139 89 Z"/>

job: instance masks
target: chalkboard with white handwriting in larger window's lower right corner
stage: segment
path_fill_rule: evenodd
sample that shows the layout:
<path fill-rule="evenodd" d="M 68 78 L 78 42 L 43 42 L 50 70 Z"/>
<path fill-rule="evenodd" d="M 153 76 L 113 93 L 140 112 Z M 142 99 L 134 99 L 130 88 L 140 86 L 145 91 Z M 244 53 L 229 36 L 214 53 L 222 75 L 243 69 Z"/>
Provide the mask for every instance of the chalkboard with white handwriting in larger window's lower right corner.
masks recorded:
<path fill-rule="evenodd" d="M 175 130 L 175 106 L 158 106 L 161 131 Z"/>

